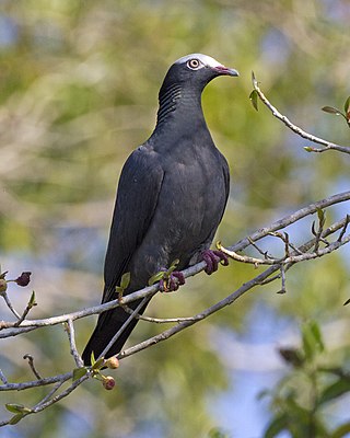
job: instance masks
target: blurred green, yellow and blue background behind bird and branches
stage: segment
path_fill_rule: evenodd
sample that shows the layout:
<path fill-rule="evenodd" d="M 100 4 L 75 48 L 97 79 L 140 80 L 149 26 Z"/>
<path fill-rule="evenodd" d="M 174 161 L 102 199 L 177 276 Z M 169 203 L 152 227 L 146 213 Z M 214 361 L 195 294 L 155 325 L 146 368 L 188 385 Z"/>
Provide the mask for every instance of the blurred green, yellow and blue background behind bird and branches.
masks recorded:
<path fill-rule="evenodd" d="M 312 154 L 260 106 L 252 107 L 250 71 L 281 112 L 304 129 L 349 143 L 349 128 L 320 112 L 350 94 L 348 0 L 1 0 L 0 2 L 0 262 L 8 277 L 33 272 L 31 290 L 44 318 L 96 304 L 103 258 L 124 161 L 151 134 L 158 92 L 168 66 L 205 53 L 236 68 L 203 94 L 208 125 L 232 172 L 220 239 L 226 244 L 272 220 L 349 188 L 349 159 Z M 332 208 L 339 219 L 349 205 Z M 311 219 L 291 232 L 310 235 Z M 271 242 L 270 242 L 271 243 Z M 271 243 L 272 244 L 272 243 Z M 149 314 L 190 315 L 257 272 L 232 263 L 215 276 L 188 280 L 160 296 Z M 329 357 L 349 361 L 349 251 L 294 267 L 288 293 L 271 284 L 203 323 L 122 361 L 117 389 L 89 381 L 63 403 L 1 430 L 10 437 L 230 437 L 262 435 L 269 404 L 257 397 L 288 372 L 277 348 L 298 345 L 300 324 L 315 319 Z M 1 304 L 0 319 L 10 314 Z M 78 346 L 94 325 L 75 324 Z M 140 323 L 130 344 L 158 333 Z M 1 342 L 0 367 L 11 381 L 73 368 L 61 326 Z M 44 391 L 2 393 L 32 405 Z M 347 401 L 326 414 L 347 419 Z M 281 435 L 282 436 L 282 435 Z M 287 435 L 284 435 L 287 436 Z"/>

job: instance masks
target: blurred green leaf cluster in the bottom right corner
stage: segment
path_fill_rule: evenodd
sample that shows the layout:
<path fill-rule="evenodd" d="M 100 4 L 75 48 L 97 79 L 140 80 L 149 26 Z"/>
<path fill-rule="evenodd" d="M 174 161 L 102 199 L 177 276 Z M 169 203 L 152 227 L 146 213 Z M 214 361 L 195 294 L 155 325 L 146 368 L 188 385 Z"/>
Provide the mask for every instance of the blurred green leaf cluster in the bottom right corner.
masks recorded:
<path fill-rule="evenodd" d="M 318 324 L 310 321 L 303 325 L 299 349 L 281 348 L 279 353 L 292 370 L 272 391 L 261 393 L 271 397 L 276 412 L 264 438 L 277 437 L 281 431 L 289 431 L 292 438 L 348 437 L 350 420 L 330 428 L 324 407 L 350 392 L 350 374 L 347 369 L 332 366 L 334 358 L 325 350 Z"/>

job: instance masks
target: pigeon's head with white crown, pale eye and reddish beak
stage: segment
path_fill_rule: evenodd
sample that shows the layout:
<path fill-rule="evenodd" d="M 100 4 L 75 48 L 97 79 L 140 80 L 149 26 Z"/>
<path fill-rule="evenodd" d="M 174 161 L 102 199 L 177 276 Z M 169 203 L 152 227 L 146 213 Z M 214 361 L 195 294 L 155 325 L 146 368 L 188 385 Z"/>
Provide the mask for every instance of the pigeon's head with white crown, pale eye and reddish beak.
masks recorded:
<path fill-rule="evenodd" d="M 224 67 L 214 58 L 202 54 L 186 55 L 175 61 L 168 69 L 163 87 L 179 84 L 189 85 L 202 91 L 212 79 L 219 76 L 238 76 L 237 70 Z"/>

